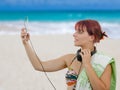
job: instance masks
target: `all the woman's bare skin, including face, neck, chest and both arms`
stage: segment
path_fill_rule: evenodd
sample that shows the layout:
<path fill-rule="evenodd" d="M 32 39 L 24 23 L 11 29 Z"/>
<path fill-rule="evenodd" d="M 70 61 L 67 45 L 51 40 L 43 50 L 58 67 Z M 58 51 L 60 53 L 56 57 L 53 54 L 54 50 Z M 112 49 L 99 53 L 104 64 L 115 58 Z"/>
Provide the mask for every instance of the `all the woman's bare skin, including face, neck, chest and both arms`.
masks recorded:
<path fill-rule="evenodd" d="M 81 72 L 81 70 L 85 68 L 93 90 L 110 90 L 111 65 L 108 65 L 106 67 L 104 73 L 99 78 L 90 64 L 90 52 L 94 50 L 94 36 L 88 35 L 86 27 L 84 27 L 81 31 L 76 30 L 73 34 L 73 37 L 74 45 L 82 48 L 80 53 L 82 56 L 82 63 L 75 60 L 71 64 L 75 54 L 66 54 L 59 58 L 43 62 L 38 59 L 28 42 L 30 39 L 29 33 L 27 33 L 24 28 L 21 30 L 21 39 L 23 45 L 35 70 L 43 71 L 40 62 L 44 66 L 46 72 L 54 72 L 71 66 L 73 70 L 78 74 L 78 72 Z M 72 90 L 72 88 L 72 86 L 68 87 L 68 90 Z"/>

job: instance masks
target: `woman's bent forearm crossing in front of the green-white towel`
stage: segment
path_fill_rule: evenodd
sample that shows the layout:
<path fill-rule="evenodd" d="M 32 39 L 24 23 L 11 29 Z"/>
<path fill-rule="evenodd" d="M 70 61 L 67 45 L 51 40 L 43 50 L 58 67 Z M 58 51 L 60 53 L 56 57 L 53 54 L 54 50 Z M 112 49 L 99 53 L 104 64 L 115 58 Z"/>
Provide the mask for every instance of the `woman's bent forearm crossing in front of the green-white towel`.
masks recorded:
<path fill-rule="evenodd" d="M 86 64 L 85 69 L 93 90 L 107 90 L 105 84 L 97 76 L 96 72 L 90 64 Z"/>

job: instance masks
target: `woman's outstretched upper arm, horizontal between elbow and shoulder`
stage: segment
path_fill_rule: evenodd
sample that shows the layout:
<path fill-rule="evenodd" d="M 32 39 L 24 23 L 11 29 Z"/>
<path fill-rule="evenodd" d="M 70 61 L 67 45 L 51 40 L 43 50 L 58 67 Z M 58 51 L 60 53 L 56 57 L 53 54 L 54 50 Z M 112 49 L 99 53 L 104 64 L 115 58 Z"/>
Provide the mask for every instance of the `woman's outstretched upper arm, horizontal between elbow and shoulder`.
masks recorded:
<path fill-rule="evenodd" d="M 68 60 L 69 58 L 70 58 L 70 55 L 67 54 L 67 55 L 61 56 L 56 59 L 44 61 L 44 62 L 42 62 L 42 65 L 46 72 L 58 71 L 58 70 L 61 70 L 61 69 L 64 69 L 67 67 L 66 60 Z M 43 71 L 41 69 L 42 69 L 42 67 L 38 68 L 39 71 Z"/>

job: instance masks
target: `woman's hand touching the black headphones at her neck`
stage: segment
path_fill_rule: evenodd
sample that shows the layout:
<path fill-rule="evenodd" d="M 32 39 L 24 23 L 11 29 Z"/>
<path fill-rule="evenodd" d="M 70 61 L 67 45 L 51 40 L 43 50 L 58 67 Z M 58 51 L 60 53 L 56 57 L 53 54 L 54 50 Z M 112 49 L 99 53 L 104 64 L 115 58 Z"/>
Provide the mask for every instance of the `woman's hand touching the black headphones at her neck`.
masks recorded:
<path fill-rule="evenodd" d="M 82 57 L 83 66 L 85 66 L 87 64 L 90 64 L 91 52 L 90 52 L 89 49 L 83 49 L 83 50 L 81 50 L 80 55 Z"/>

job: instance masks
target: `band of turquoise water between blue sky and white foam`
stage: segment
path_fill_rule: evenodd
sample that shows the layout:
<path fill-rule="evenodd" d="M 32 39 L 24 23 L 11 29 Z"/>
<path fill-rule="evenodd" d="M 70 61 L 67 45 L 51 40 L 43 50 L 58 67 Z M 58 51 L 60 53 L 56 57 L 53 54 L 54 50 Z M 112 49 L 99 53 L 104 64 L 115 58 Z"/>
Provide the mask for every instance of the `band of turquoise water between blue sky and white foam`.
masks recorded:
<path fill-rule="evenodd" d="M 31 21 L 77 21 L 95 19 L 106 22 L 120 22 L 120 11 L 15 11 L 0 12 L 0 21 L 24 20 L 28 16 Z"/>

